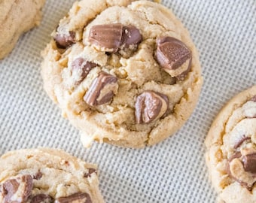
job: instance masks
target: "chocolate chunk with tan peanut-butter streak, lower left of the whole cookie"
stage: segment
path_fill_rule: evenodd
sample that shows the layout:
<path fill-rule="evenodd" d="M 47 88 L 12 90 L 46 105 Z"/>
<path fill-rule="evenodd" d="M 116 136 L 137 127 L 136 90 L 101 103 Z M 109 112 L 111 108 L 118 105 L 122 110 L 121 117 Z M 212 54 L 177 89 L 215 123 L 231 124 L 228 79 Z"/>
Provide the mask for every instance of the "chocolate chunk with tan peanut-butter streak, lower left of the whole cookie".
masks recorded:
<path fill-rule="evenodd" d="M 91 106 L 103 105 L 111 101 L 117 89 L 117 77 L 102 71 L 84 95 L 84 101 Z"/>

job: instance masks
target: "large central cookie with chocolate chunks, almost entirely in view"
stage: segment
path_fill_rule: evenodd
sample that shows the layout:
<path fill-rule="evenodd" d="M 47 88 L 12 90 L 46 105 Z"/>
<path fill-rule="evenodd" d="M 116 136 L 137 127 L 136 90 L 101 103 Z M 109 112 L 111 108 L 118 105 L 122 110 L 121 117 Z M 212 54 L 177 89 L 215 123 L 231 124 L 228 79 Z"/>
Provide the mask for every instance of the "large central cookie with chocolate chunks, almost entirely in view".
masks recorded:
<path fill-rule="evenodd" d="M 43 53 L 44 89 L 85 147 L 163 141 L 200 95 L 200 62 L 187 29 L 163 5 L 130 2 L 75 2 Z"/>

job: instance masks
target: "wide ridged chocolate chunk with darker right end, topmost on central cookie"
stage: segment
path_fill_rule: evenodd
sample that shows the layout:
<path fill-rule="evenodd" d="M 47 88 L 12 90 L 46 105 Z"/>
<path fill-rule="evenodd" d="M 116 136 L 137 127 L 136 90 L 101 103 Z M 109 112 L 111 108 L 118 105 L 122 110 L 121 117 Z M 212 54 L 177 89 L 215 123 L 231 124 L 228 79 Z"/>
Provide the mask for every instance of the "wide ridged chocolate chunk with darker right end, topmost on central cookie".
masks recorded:
<path fill-rule="evenodd" d="M 108 53 L 115 53 L 122 46 L 139 44 L 142 41 L 142 35 L 135 26 L 113 23 L 93 26 L 90 29 L 89 41 L 96 46 L 110 49 Z"/>

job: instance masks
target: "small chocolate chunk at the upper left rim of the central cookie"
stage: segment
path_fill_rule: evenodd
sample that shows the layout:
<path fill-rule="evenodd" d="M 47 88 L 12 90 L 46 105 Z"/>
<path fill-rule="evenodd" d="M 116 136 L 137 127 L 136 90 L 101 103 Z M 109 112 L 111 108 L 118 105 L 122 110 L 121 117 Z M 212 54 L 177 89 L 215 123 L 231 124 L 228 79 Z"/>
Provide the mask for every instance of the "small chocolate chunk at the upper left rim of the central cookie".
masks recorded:
<path fill-rule="evenodd" d="M 66 49 L 75 43 L 75 32 L 69 31 L 69 34 L 57 33 L 54 40 L 59 49 Z"/>

